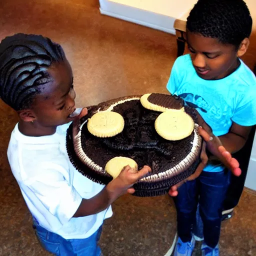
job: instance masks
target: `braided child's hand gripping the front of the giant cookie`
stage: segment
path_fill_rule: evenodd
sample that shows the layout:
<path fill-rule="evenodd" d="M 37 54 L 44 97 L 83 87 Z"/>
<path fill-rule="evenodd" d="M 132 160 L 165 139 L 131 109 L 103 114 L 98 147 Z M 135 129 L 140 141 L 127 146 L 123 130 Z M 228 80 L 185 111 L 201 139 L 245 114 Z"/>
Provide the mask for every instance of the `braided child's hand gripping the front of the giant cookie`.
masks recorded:
<path fill-rule="evenodd" d="M 116 197 L 124 194 L 125 192 L 134 193 L 135 190 L 132 188 L 132 185 L 140 178 L 146 176 L 150 171 L 151 168 L 147 165 L 143 166 L 139 171 L 127 165 L 115 179 L 109 182 L 107 185 L 108 191 L 115 193 Z"/>

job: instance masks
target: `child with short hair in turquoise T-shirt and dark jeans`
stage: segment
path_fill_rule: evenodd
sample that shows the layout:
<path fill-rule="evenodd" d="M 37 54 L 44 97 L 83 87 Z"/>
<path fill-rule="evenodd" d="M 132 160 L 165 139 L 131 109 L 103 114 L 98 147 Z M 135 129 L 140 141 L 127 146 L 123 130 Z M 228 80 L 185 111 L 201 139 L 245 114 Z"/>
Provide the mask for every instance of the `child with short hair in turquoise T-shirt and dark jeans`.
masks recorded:
<path fill-rule="evenodd" d="M 195 107 L 230 152 L 256 124 L 256 79 L 239 58 L 247 50 L 252 19 L 243 0 L 198 0 L 187 18 L 190 54 L 174 62 L 167 89 Z M 191 255 L 197 203 L 203 221 L 202 255 L 219 255 L 221 210 L 230 173 L 208 162 L 198 178 L 172 187 L 178 240 L 174 255 Z M 194 225 L 193 225 L 194 224 Z"/>

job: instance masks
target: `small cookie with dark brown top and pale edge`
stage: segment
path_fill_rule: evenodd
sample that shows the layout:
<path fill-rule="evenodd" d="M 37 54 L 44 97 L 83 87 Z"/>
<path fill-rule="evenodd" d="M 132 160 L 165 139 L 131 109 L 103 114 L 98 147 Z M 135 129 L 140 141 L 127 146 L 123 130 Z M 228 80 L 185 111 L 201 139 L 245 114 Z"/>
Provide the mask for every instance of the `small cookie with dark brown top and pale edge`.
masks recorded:
<path fill-rule="evenodd" d="M 140 103 L 144 108 L 158 112 L 166 110 L 184 111 L 183 100 L 167 94 L 147 93 L 140 97 Z"/>

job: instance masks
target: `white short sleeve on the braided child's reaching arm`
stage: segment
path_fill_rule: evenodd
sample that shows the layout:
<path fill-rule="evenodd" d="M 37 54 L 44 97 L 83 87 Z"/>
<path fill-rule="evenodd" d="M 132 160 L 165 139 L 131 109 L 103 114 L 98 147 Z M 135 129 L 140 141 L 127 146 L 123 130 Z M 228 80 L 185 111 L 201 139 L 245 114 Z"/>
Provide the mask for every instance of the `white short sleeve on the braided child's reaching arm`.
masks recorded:
<path fill-rule="evenodd" d="M 72 186 L 69 172 L 63 166 L 53 163 L 41 164 L 43 168 L 30 180 L 28 187 L 44 207 L 64 224 L 79 207 L 82 197 Z"/>

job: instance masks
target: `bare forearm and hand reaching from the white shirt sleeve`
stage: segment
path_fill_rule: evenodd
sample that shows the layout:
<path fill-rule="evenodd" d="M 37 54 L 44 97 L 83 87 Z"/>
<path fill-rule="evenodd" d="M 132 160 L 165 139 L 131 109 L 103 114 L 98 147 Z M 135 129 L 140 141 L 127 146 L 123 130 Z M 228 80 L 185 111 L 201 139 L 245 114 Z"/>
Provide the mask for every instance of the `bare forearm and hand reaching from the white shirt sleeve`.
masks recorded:
<path fill-rule="evenodd" d="M 144 166 L 136 171 L 129 166 L 123 168 L 119 176 L 110 181 L 98 194 L 90 199 L 82 199 L 73 217 L 87 216 L 98 213 L 107 208 L 115 199 L 125 192 L 133 193 L 131 186 L 144 177 L 150 171 L 150 167 Z"/>

